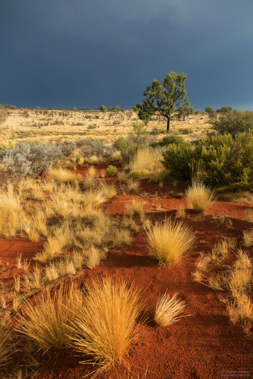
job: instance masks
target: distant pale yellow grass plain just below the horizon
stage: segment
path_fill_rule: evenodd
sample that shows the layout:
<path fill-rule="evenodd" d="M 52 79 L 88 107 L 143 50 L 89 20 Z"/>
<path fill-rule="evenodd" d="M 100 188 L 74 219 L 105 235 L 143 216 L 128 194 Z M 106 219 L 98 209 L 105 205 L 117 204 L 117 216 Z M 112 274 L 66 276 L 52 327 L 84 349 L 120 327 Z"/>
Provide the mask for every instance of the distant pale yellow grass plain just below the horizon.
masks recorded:
<path fill-rule="evenodd" d="M 36 110 L 29 110 L 28 114 L 23 114 L 23 111 L 10 111 L 7 121 L 3 124 L 2 131 L 2 145 L 8 145 L 9 143 L 15 144 L 20 140 L 28 141 L 49 141 L 52 139 L 58 139 L 62 136 L 67 136 L 71 140 L 76 140 L 83 135 L 83 131 L 86 129 L 88 117 L 90 123 L 96 123 L 97 128 L 89 130 L 89 137 L 96 140 L 106 138 L 108 143 L 115 141 L 119 135 L 123 137 L 133 130 L 133 121 L 136 121 L 136 114 L 131 110 L 120 112 L 120 115 L 115 113 L 111 114 L 106 112 L 99 119 L 96 118 L 98 111 L 65 111 L 62 115 L 61 111 L 53 110 L 45 114 L 37 115 Z M 61 114 L 60 114 L 61 113 Z M 34 123 L 39 124 L 40 127 L 34 127 Z M 50 118 L 50 122 L 48 122 Z M 120 123 L 118 124 L 118 121 Z M 115 126 L 112 126 L 114 121 L 117 122 Z M 86 125 L 86 126 L 84 126 Z M 147 125 L 147 131 L 151 131 L 154 127 L 158 129 L 166 130 L 166 120 L 161 119 L 159 116 L 154 116 Z M 191 115 L 185 121 L 173 120 L 173 130 L 179 130 L 179 128 L 191 128 L 193 131 L 199 130 L 205 131 L 210 128 L 208 124 L 207 115 Z M 11 139 L 13 132 L 16 132 L 17 138 Z M 160 134 L 157 135 L 157 138 Z M 187 139 L 191 135 L 186 136 Z M 114 159 L 119 159 L 119 154 Z"/>

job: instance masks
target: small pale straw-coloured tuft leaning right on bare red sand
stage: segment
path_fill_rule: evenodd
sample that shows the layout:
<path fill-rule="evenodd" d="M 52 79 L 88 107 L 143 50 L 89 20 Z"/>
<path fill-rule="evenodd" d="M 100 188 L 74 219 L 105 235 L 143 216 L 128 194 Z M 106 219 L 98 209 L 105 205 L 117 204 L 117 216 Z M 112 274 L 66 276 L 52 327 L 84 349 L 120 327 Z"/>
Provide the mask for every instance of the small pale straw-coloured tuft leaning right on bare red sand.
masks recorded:
<path fill-rule="evenodd" d="M 168 326 L 174 322 L 179 321 L 183 316 L 179 316 L 186 306 L 184 301 L 177 299 L 178 293 L 170 298 L 166 292 L 162 296 L 159 295 L 154 321 L 158 326 Z"/>

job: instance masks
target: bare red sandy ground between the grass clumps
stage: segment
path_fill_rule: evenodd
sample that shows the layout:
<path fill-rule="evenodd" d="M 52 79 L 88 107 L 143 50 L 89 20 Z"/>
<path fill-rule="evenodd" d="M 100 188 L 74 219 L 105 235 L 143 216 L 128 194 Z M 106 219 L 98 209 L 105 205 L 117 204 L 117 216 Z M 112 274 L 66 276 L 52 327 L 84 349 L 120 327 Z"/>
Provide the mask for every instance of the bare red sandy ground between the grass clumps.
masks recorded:
<path fill-rule="evenodd" d="M 106 168 L 106 167 L 103 167 Z M 83 169 L 78 172 L 83 174 Z M 156 194 L 157 192 L 157 194 Z M 140 197 L 145 202 L 147 214 L 154 219 L 169 217 L 180 204 L 186 206 L 183 188 L 141 182 L 138 194 L 119 194 L 103 205 L 103 209 L 112 215 L 123 214 L 125 202 L 132 197 Z M 143 197 L 142 194 L 145 193 Z M 148 195 L 148 194 L 149 195 Z M 180 193 L 180 194 L 179 194 Z M 161 209 L 157 207 L 161 206 Z M 82 269 L 76 276 L 78 283 L 85 283 L 96 276 L 128 278 L 143 290 L 146 300 L 148 319 L 139 329 L 139 342 L 133 346 L 126 360 L 133 377 L 142 378 L 147 369 L 147 379 L 168 378 L 221 378 L 239 376 L 224 371 L 247 370 L 253 375 L 252 341 L 245 338 L 242 326 L 229 322 L 226 306 L 219 300 L 220 293 L 193 281 L 191 276 L 199 252 L 208 252 L 221 236 L 235 236 L 238 247 L 241 245 L 242 231 L 252 224 L 243 221 L 246 208 L 252 204 L 216 202 L 205 216 L 199 216 L 188 210 L 184 219 L 197 233 L 198 243 L 195 254 L 184 257 L 174 266 L 159 268 L 150 258 L 145 245 L 145 235 L 139 232 L 130 246 L 111 249 L 100 267 L 93 270 Z M 220 224 L 213 215 L 232 218 L 232 226 Z M 0 240 L 2 261 L 15 266 L 17 253 L 23 258 L 32 258 L 40 251 L 43 242 L 33 244 L 24 240 Z M 245 250 L 245 249 L 244 249 Z M 252 255 L 253 249 L 247 249 Z M 228 262 L 234 260 L 230 254 Z M 1 267 L 1 266 L 0 266 Z M 12 275 L 12 268 L 9 269 Z M 3 275 L 3 274 L 2 274 Z M 1 275 L 0 278 L 2 279 Z M 153 322 L 158 295 L 167 290 L 173 295 L 178 292 L 187 304 L 179 322 L 165 328 L 157 328 Z M 34 377 L 36 379 L 79 379 L 95 369 L 91 365 L 82 365 L 80 359 L 66 354 L 57 358 L 45 358 L 42 367 Z M 116 367 L 97 376 L 102 378 L 128 378 L 125 368 Z M 242 374 L 240 377 L 250 377 Z"/>

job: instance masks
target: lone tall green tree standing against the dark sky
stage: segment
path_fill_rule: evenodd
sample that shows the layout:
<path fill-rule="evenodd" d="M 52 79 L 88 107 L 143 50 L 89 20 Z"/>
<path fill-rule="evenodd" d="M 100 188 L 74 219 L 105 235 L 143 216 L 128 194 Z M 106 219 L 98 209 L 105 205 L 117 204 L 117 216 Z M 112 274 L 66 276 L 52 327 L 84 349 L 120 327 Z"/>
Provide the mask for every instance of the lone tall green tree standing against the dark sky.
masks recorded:
<path fill-rule="evenodd" d="M 170 120 L 174 116 L 186 117 L 193 112 L 186 96 L 185 81 L 187 75 L 171 71 L 159 82 L 154 79 L 143 92 L 142 105 L 137 103 L 136 109 L 149 115 L 158 114 L 167 119 L 167 131 L 170 129 Z"/>

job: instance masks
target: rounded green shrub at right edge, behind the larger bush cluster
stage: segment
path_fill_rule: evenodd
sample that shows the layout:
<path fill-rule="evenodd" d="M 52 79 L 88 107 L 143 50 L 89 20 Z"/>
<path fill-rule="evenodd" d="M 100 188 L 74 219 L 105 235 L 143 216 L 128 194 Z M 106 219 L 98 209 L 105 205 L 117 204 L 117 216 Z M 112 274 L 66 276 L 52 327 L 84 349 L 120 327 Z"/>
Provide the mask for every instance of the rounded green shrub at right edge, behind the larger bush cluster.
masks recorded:
<path fill-rule="evenodd" d="M 218 133 L 230 133 L 234 137 L 236 133 L 253 130 L 253 112 L 230 110 L 209 122 Z"/>

